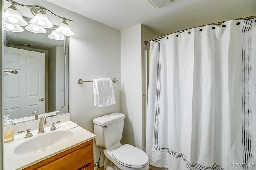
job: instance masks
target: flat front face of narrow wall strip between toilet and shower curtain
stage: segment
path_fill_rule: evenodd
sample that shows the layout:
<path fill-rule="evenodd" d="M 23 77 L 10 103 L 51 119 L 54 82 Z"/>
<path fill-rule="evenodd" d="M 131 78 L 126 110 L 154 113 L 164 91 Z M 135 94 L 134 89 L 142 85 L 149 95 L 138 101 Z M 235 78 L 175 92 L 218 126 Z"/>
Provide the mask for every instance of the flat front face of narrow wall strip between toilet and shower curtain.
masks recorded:
<path fill-rule="evenodd" d="M 141 24 L 121 31 L 122 144 L 142 149 Z"/>

